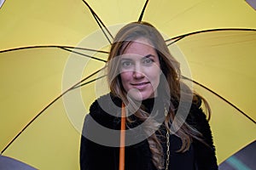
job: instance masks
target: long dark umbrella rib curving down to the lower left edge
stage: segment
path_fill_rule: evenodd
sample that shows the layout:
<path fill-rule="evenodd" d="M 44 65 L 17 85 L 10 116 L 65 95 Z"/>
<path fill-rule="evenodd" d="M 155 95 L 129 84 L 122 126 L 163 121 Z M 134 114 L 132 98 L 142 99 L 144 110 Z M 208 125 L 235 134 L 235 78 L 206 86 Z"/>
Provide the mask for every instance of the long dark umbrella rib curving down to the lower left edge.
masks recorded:
<path fill-rule="evenodd" d="M 102 69 L 104 69 L 104 67 L 103 67 Z M 44 109 L 43 109 L 42 111 L 40 111 L 37 116 L 34 116 L 34 117 L 32 118 L 32 120 L 31 120 L 30 122 L 28 122 L 25 127 L 23 127 L 23 128 L 21 129 L 20 133 L 18 133 L 18 134 L 15 136 L 15 138 L 12 139 L 12 140 L 9 142 L 9 144 L 7 144 L 7 146 L 5 146 L 5 148 L 1 151 L 0 154 L 3 154 L 3 152 L 4 152 L 5 150 L 7 150 L 11 144 L 13 144 L 13 142 L 15 141 L 15 139 L 17 139 L 17 138 L 20 136 L 20 134 L 23 133 L 23 132 L 26 130 L 26 128 L 29 127 L 29 126 L 32 124 L 32 122 L 34 122 L 39 116 L 41 116 L 41 115 L 44 113 L 44 111 L 46 111 L 46 110 L 49 108 L 49 106 L 53 105 L 53 104 L 55 103 L 55 101 L 57 101 L 58 99 L 61 99 L 61 97 L 62 97 L 63 95 L 65 95 L 65 94 L 67 94 L 69 91 L 73 90 L 74 88 L 77 88 L 77 86 L 78 86 L 81 82 L 84 82 L 84 81 L 87 80 L 88 78 L 90 78 L 90 77 L 96 75 L 99 71 L 102 71 L 102 69 L 93 72 L 93 73 L 90 74 L 88 77 L 84 77 L 84 79 L 82 79 L 81 81 L 75 83 L 71 88 L 68 88 L 65 92 L 63 92 L 63 93 L 60 94 L 57 98 L 55 98 L 53 101 L 51 101 L 51 102 L 49 103 L 49 105 L 46 105 L 46 107 L 44 107 Z"/>

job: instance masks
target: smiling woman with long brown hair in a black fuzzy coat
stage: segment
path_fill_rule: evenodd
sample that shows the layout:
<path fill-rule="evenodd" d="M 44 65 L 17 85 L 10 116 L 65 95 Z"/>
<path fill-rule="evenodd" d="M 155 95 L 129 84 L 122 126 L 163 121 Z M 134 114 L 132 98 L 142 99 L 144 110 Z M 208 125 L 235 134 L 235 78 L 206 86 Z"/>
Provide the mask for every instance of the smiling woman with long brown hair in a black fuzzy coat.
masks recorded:
<path fill-rule="evenodd" d="M 110 94 L 97 99 L 85 118 L 81 169 L 119 168 L 115 132 L 122 104 L 125 170 L 218 169 L 212 133 L 201 110 L 204 103 L 210 114 L 207 102 L 181 82 L 179 64 L 154 26 L 124 26 L 114 38 L 106 68 Z"/>

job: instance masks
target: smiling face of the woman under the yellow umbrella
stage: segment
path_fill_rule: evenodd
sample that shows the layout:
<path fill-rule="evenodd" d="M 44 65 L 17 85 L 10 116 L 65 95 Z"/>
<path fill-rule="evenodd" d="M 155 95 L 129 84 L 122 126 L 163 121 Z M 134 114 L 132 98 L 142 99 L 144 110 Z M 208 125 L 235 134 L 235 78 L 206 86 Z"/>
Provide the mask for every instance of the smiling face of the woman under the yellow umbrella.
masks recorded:
<path fill-rule="evenodd" d="M 153 98 L 160 83 L 159 57 L 147 39 L 131 42 L 120 56 L 120 77 L 129 97 Z"/>

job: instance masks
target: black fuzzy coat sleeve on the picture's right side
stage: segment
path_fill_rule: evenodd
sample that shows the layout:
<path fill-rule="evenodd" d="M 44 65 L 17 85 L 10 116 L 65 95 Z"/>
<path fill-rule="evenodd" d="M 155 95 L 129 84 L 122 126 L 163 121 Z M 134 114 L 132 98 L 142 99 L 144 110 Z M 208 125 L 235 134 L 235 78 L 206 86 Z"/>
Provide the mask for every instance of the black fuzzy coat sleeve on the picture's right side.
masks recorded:
<path fill-rule="evenodd" d="M 215 146 L 212 139 L 212 131 L 207 121 L 207 116 L 199 107 L 193 107 L 194 127 L 202 134 L 201 141 L 194 141 L 196 167 L 198 170 L 218 170 Z"/>

